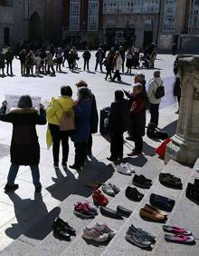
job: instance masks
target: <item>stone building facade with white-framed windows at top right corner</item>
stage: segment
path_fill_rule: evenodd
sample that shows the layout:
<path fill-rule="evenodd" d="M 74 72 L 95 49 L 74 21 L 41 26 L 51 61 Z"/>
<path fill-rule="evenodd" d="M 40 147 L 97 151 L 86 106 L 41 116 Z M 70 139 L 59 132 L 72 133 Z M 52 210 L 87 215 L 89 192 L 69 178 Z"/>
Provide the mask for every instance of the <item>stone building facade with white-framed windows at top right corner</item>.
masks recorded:
<path fill-rule="evenodd" d="M 168 50 L 175 43 L 184 52 L 198 52 L 199 1 L 165 0 L 160 10 L 159 48 Z"/>

